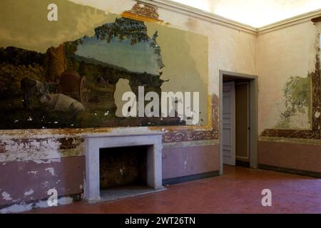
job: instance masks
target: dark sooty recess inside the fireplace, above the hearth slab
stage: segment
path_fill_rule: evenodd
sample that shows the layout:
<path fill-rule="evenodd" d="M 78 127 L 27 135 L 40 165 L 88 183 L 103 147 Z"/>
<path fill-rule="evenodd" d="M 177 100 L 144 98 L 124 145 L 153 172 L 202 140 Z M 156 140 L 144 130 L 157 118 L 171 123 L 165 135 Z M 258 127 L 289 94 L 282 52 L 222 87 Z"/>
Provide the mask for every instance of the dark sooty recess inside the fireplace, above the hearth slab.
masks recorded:
<path fill-rule="evenodd" d="M 148 146 L 103 148 L 99 151 L 101 190 L 147 186 Z"/>

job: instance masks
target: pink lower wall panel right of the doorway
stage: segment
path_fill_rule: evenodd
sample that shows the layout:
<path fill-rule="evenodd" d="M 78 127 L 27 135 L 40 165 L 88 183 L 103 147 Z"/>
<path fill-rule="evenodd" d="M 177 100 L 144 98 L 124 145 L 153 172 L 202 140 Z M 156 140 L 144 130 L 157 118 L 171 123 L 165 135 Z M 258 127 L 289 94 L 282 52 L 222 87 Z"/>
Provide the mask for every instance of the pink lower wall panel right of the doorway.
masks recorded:
<path fill-rule="evenodd" d="M 321 172 L 321 145 L 259 141 L 258 163 L 260 165 Z"/>

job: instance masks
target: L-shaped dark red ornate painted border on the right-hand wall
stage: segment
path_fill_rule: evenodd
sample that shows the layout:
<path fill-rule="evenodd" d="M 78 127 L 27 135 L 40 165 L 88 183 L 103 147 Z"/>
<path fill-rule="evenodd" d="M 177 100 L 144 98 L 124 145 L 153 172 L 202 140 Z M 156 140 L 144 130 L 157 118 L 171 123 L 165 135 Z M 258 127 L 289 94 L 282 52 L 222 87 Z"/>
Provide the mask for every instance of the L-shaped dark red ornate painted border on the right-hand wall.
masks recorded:
<path fill-rule="evenodd" d="M 277 138 L 305 138 L 305 139 L 321 139 L 320 134 L 320 58 L 316 57 L 315 71 L 312 72 L 312 130 L 280 130 L 267 129 L 260 136 L 277 137 Z"/>

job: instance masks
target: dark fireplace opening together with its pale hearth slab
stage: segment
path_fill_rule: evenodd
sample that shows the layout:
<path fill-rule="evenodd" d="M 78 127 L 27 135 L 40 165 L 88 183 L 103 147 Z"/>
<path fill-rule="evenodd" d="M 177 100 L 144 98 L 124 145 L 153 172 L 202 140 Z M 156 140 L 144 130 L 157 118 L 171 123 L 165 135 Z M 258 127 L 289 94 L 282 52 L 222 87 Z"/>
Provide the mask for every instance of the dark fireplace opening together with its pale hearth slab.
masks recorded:
<path fill-rule="evenodd" d="M 152 164 L 148 164 L 152 151 L 153 145 L 100 149 L 101 200 L 109 201 L 163 190 L 148 186 L 148 176 L 153 175 L 152 169 L 148 168 L 152 167 Z M 153 182 L 149 185 L 151 184 Z"/>

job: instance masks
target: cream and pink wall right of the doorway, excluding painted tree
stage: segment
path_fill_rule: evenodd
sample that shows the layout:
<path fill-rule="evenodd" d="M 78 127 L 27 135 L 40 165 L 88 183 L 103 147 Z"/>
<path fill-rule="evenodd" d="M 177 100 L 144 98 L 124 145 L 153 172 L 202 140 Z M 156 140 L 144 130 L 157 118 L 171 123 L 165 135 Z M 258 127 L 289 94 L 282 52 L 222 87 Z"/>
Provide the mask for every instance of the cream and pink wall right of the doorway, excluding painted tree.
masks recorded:
<path fill-rule="evenodd" d="M 317 62 L 320 59 L 320 28 L 320 23 L 314 25 L 307 21 L 258 36 L 258 133 L 265 136 L 259 141 L 260 165 L 321 173 L 320 107 L 314 107 L 311 113 L 302 116 L 314 118 L 313 129 L 311 124 L 290 130 L 275 129 L 284 110 L 283 90 L 289 78 L 307 78 L 309 73 L 320 78 Z M 320 83 L 315 82 L 315 85 L 320 89 Z M 320 90 L 316 91 L 313 100 L 320 98 Z M 295 125 L 299 120 L 290 121 Z M 277 135 L 266 137 L 268 135 L 263 133 L 267 131 Z"/>

